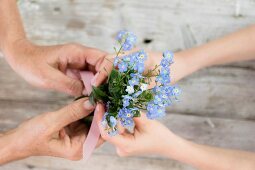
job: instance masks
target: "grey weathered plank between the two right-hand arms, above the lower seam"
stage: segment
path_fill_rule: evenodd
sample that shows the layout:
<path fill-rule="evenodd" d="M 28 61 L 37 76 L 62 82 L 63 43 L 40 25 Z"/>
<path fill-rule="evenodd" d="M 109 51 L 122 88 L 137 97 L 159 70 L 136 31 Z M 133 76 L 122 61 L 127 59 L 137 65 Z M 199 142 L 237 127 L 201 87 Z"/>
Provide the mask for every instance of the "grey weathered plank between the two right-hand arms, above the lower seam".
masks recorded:
<path fill-rule="evenodd" d="M 254 119 L 255 72 L 252 68 L 212 67 L 183 80 L 181 103 L 169 110 L 184 114 Z"/>

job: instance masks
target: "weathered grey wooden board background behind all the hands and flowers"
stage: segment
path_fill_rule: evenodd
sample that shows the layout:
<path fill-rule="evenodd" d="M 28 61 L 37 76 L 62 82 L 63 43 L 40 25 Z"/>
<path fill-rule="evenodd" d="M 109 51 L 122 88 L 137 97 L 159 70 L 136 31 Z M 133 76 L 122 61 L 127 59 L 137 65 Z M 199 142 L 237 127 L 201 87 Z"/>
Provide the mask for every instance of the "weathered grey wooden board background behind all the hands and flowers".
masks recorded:
<path fill-rule="evenodd" d="M 38 44 L 72 41 L 109 52 L 122 28 L 137 34 L 140 47 L 178 51 L 255 23 L 255 0 L 21 0 L 20 9 L 28 36 Z M 163 121 L 172 131 L 199 143 L 255 151 L 255 62 L 204 69 L 179 84 L 181 102 L 169 108 Z M 0 58 L 1 131 L 70 100 L 31 87 Z M 193 168 L 158 156 L 119 158 L 106 144 L 88 163 L 32 157 L 0 169 Z"/>

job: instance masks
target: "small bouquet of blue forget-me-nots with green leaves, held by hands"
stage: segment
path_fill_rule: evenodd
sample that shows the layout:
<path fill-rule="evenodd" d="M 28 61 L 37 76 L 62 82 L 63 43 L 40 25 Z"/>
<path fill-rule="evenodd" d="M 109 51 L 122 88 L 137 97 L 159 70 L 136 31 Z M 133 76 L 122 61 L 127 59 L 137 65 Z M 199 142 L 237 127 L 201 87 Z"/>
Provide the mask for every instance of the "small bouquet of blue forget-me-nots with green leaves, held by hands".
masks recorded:
<path fill-rule="evenodd" d="M 124 52 L 134 47 L 136 36 L 128 31 L 120 31 L 116 39 L 119 48 L 114 48 L 116 57 L 112 61 L 113 69 L 108 80 L 99 87 L 93 87 L 89 96 L 92 103 L 101 101 L 106 104 L 102 125 L 110 135 L 118 134 L 118 122 L 132 131 L 133 118 L 139 117 L 142 110 L 147 111 L 149 119 L 163 117 L 165 108 L 176 101 L 180 94 L 179 88 L 170 84 L 172 52 L 165 51 L 160 65 L 144 73 L 147 59 L 145 51 L 123 56 Z M 148 88 L 153 77 L 156 86 Z"/>

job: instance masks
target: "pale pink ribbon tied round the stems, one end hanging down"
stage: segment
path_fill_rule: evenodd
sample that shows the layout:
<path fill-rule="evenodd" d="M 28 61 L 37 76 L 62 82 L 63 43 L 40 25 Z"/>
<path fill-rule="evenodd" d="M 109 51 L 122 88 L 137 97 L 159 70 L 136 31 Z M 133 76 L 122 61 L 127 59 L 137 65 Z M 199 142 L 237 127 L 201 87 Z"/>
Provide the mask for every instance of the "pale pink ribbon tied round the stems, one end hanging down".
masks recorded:
<path fill-rule="evenodd" d="M 89 71 L 81 71 L 80 75 L 87 93 L 90 94 L 92 92 L 91 80 L 94 77 L 94 74 Z M 100 138 L 100 130 L 97 125 L 96 113 L 95 113 L 87 139 L 85 140 L 83 144 L 83 159 L 85 161 L 87 161 L 92 155 L 93 151 L 96 148 L 99 138 Z"/>

